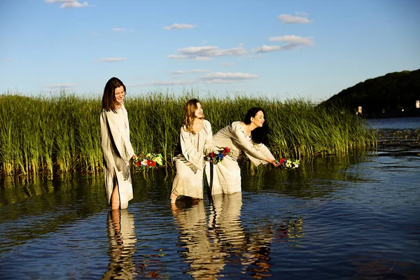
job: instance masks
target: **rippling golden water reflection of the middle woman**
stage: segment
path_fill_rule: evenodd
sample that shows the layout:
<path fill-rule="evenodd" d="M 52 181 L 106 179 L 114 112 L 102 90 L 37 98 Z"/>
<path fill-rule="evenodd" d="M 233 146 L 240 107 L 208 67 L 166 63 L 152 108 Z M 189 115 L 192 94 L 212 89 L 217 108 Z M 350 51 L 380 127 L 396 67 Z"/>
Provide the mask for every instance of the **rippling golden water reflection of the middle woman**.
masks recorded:
<path fill-rule="evenodd" d="M 187 273 L 194 279 L 216 279 L 216 274 L 225 266 L 225 253 L 207 236 L 204 201 L 194 200 L 189 208 L 177 208 L 174 216 L 178 223 L 179 241 L 186 248 L 182 256 L 190 264 Z M 175 205 L 173 204 L 173 207 Z"/>

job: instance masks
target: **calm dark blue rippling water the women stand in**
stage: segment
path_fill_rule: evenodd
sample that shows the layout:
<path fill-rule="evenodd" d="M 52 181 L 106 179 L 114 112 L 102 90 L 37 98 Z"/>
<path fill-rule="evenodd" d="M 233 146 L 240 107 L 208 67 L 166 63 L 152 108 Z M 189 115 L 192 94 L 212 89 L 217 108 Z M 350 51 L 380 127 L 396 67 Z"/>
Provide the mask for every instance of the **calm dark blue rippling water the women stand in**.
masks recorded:
<path fill-rule="evenodd" d="M 419 124 L 372 124 L 375 153 L 244 167 L 243 193 L 176 208 L 164 172 L 136 174 L 116 213 L 102 178 L 7 179 L 0 279 L 419 279 Z"/>

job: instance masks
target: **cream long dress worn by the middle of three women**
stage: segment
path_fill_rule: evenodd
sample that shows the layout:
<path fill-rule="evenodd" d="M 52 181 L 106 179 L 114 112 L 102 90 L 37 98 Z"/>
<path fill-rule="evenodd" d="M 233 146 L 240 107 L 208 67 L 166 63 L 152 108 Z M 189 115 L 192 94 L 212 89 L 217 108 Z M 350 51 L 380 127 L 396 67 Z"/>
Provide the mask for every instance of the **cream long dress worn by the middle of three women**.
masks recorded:
<path fill-rule="evenodd" d="M 213 142 L 213 132 L 208 120 L 204 120 L 202 130 L 195 134 L 181 128 L 179 136 L 181 153 L 175 155 L 176 175 L 172 192 L 178 197 L 203 198 L 203 172 L 206 166 L 204 156 L 218 150 Z"/>

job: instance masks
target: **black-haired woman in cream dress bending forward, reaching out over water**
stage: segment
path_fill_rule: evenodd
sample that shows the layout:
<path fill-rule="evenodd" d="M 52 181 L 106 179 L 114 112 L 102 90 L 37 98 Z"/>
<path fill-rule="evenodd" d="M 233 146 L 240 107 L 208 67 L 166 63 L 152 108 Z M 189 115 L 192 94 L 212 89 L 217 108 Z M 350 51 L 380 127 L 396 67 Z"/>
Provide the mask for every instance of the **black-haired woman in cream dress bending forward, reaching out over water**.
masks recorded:
<path fill-rule="evenodd" d="M 243 122 L 233 122 L 214 134 L 214 143 L 220 147 L 230 148 L 232 156 L 226 156 L 222 162 L 213 166 L 214 170 L 206 172 L 207 180 L 211 182 L 211 195 L 241 191 L 241 169 L 237 160 L 244 154 L 256 166 L 267 163 L 274 167 L 279 166 L 272 153 L 263 144 L 267 130 L 264 110 L 254 107 L 248 110 Z M 207 168 L 211 169 L 210 165 L 207 164 Z"/>

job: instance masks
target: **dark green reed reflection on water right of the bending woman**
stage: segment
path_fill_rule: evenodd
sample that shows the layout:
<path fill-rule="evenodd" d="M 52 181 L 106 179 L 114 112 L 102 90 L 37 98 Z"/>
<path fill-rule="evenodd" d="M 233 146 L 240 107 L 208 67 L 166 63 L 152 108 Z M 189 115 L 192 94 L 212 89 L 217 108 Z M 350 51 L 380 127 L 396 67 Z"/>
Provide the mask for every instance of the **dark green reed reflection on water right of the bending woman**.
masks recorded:
<path fill-rule="evenodd" d="M 274 191 L 290 197 L 326 197 L 350 183 L 372 181 L 355 166 L 372 160 L 368 153 L 354 157 L 316 158 L 298 169 L 258 168 L 242 175 L 242 190 L 251 193 Z"/>

